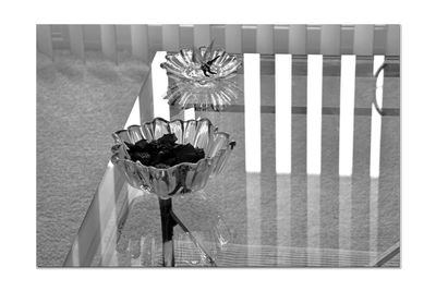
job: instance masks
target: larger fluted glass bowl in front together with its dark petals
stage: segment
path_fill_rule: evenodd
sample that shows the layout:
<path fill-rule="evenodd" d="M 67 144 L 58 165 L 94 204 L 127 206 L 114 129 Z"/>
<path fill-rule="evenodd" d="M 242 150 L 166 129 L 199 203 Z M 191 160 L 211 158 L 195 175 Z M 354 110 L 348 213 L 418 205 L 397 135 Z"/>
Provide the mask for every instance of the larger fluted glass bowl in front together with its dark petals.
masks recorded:
<path fill-rule="evenodd" d="M 156 118 L 112 136 L 112 163 L 132 186 L 161 198 L 205 187 L 210 175 L 221 172 L 235 145 L 208 119 Z"/>

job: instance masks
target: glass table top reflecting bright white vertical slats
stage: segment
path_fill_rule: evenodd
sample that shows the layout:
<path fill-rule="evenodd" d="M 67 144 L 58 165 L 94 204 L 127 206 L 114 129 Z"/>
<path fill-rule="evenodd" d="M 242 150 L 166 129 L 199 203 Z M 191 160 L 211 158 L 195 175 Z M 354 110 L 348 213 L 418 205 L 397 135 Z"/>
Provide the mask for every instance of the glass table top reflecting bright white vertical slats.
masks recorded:
<path fill-rule="evenodd" d="M 172 198 L 175 266 L 400 266 L 398 58 L 240 54 L 241 94 L 216 112 L 168 105 L 165 54 L 125 126 L 207 118 L 237 142 L 204 190 Z M 65 266 L 161 265 L 157 197 L 109 162 Z"/>

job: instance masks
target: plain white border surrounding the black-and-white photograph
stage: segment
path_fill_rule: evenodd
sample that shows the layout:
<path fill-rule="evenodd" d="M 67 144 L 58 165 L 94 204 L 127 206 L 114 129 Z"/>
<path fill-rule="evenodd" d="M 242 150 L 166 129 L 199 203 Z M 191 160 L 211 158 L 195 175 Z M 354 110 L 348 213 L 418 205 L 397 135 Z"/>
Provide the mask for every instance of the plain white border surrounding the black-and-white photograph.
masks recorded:
<path fill-rule="evenodd" d="M 380 0 L 282 1 L 286 5 L 271 0 L 195 2 L 2 2 L 1 289 L 436 290 L 435 9 L 416 0 L 410 4 Z M 204 12 L 205 8 L 210 12 Z M 37 269 L 37 23 L 401 24 L 402 268 Z"/>

